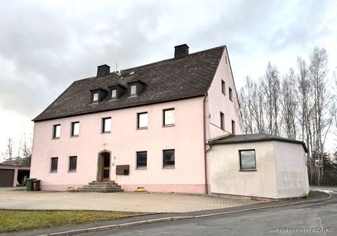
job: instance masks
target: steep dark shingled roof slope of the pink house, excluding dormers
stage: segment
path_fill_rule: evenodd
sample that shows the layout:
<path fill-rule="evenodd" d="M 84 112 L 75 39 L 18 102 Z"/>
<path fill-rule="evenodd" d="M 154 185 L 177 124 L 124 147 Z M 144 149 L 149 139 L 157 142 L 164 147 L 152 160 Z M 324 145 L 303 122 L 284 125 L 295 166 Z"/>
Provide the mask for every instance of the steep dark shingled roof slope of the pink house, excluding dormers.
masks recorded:
<path fill-rule="evenodd" d="M 112 72 L 105 77 L 90 77 L 74 81 L 44 112 L 33 119 L 40 122 L 47 119 L 70 117 L 124 107 L 161 103 L 204 96 L 209 90 L 225 46 L 191 53 L 185 58 L 161 60 L 157 63 L 133 67 L 122 71 L 120 77 Z M 131 72 L 135 72 L 130 75 Z M 106 96 L 100 103 L 91 103 L 91 89 L 121 84 L 128 88 L 128 82 L 138 79 L 146 84 L 145 89 L 135 97 L 128 93 L 117 100 Z"/>

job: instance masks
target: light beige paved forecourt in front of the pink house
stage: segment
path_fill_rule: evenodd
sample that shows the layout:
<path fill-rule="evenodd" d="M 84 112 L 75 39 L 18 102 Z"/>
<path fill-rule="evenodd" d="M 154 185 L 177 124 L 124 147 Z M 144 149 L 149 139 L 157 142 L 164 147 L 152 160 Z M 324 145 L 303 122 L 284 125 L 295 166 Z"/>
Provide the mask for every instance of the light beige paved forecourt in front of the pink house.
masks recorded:
<path fill-rule="evenodd" d="M 70 209 L 172 213 L 223 209 L 261 201 L 147 192 L 27 192 L 0 188 L 0 209 Z"/>

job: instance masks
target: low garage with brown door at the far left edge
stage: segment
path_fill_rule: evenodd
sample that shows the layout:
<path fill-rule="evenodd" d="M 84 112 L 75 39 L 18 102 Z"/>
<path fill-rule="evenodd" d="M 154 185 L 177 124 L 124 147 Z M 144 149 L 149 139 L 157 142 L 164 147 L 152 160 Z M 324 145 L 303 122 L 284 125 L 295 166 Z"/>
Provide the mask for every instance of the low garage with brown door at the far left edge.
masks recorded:
<path fill-rule="evenodd" d="M 29 172 L 29 166 L 0 164 L 0 187 L 25 185 Z"/>

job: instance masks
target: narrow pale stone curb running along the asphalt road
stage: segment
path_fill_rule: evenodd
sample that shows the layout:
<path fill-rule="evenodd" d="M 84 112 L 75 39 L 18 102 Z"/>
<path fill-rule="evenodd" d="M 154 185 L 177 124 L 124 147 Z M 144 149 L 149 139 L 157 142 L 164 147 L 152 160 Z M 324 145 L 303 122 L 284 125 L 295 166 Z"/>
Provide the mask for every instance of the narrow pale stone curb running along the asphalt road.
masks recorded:
<path fill-rule="evenodd" d="M 279 204 L 279 205 L 275 205 L 275 206 L 260 206 L 260 207 L 250 208 L 250 209 L 242 209 L 242 210 L 237 210 L 237 211 L 227 211 L 227 212 L 220 212 L 220 213 L 215 213 L 215 214 L 204 214 L 204 215 L 199 215 L 199 216 L 171 216 L 171 217 L 165 217 L 165 218 L 155 218 L 155 219 L 146 220 L 146 221 L 134 221 L 134 222 L 122 223 L 122 224 L 118 224 L 118 225 L 105 225 L 105 226 L 98 226 L 98 227 L 85 228 L 85 229 L 79 229 L 79 230 L 54 232 L 54 233 L 51 233 L 51 234 L 38 235 L 38 236 L 79 235 L 81 233 L 86 233 L 86 232 L 112 230 L 112 229 L 115 229 L 115 228 L 128 228 L 128 227 L 133 227 L 133 226 L 138 226 L 138 225 L 147 225 L 147 224 L 152 224 L 152 223 L 180 221 L 180 220 L 184 220 L 184 219 L 203 218 L 203 217 L 209 217 L 209 216 L 221 216 L 221 215 L 234 214 L 234 213 L 245 212 L 245 211 L 255 211 L 255 210 L 259 210 L 259 209 L 269 209 L 269 208 L 275 208 L 275 207 L 280 207 L 280 206 L 291 206 L 291 205 L 303 204 L 303 203 L 324 202 L 326 200 L 329 200 L 329 199 L 333 198 L 333 196 L 329 192 L 326 192 L 326 193 L 329 195 L 329 197 L 325 197 L 323 199 L 305 200 L 305 201 L 300 201 L 300 202 Z"/>

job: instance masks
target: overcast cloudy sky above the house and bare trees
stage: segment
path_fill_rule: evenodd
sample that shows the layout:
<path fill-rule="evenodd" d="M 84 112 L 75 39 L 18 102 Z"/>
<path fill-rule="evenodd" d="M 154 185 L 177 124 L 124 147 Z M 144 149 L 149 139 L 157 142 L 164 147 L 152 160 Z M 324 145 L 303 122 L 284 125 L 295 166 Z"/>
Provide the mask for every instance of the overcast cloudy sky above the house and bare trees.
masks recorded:
<path fill-rule="evenodd" d="M 337 67 L 337 1 L 0 0 L 0 153 L 72 81 L 227 45 L 239 89 L 270 60 L 280 72 L 315 46 Z M 17 155 L 17 150 L 13 153 Z"/>

